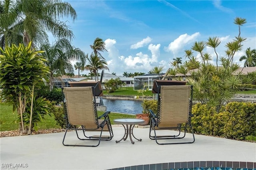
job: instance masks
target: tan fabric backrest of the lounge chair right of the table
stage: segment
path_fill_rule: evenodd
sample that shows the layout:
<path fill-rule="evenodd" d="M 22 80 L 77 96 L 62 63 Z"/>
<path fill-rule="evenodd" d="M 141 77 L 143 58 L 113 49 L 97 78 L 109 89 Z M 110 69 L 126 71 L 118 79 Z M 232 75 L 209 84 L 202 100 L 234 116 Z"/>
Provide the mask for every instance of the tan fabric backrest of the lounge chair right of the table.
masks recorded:
<path fill-rule="evenodd" d="M 161 86 L 158 127 L 176 127 L 188 120 L 191 96 L 190 85 Z"/>

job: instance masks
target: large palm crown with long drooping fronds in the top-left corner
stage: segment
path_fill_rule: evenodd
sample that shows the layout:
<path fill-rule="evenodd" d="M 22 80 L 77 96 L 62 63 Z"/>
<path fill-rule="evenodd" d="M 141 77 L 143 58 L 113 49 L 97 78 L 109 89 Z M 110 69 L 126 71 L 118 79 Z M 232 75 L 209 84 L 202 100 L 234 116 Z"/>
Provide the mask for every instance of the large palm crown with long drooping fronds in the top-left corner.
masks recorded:
<path fill-rule="evenodd" d="M 2 2 L 2 1 L 1 1 Z M 4 13 L 0 12 L 0 34 L 4 44 L 10 45 L 22 40 L 32 45 L 48 42 L 48 32 L 57 38 L 72 40 L 73 32 L 65 22 L 58 18 L 76 19 L 76 11 L 61 0 L 5 0 L 1 3 Z M 2 10 L 2 9 L 1 9 Z M 57 18 L 57 19 L 56 19 Z M 32 47 L 33 47 L 32 46 Z"/>

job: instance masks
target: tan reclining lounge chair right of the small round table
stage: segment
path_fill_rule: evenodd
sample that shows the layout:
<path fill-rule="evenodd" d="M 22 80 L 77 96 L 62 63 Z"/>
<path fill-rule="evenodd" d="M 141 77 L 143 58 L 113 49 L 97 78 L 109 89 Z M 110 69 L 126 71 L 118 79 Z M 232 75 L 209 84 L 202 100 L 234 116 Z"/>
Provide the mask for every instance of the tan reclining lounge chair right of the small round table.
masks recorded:
<path fill-rule="evenodd" d="M 191 125 L 191 107 L 192 86 L 158 85 L 158 113 L 150 110 L 150 139 L 156 140 L 157 144 L 193 143 L 195 137 Z M 185 139 L 188 128 L 192 135 Z M 168 134 L 159 130 L 166 130 Z M 160 142 L 160 139 L 165 140 Z"/>

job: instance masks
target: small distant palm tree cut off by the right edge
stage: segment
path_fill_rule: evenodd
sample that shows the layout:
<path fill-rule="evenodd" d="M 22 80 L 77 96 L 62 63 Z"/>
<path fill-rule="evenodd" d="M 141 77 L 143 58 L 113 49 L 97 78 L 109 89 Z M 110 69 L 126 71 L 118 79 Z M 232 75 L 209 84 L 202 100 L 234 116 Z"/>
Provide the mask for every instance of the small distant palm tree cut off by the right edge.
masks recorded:
<path fill-rule="evenodd" d="M 252 49 L 249 47 L 245 51 L 245 55 L 241 56 L 239 61 L 244 62 L 244 67 L 254 67 L 256 66 L 256 49 Z"/>

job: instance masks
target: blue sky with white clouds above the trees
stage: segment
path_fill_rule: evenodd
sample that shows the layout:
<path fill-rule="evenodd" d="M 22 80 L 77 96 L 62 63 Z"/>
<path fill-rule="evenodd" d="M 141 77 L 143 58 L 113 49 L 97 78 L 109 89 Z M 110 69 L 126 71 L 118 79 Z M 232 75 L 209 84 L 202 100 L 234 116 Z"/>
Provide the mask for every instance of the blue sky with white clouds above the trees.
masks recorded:
<path fill-rule="evenodd" d="M 66 24 L 75 38 L 72 43 L 85 53 L 92 52 L 90 45 L 99 37 L 106 43 L 108 52 L 102 53 L 110 71 L 122 75 L 148 73 L 155 66 L 170 67 L 170 61 L 182 57 L 195 41 L 207 41 L 217 36 L 222 42 L 216 51 L 225 56 L 225 44 L 238 36 L 234 18 L 246 18 L 241 36 L 247 38 L 243 50 L 234 61 L 243 66 L 240 56 L 247 47 L 256 48 L 255 0 L 68 0 L 77 12 L 77 19 Z M 204 52 L 216 55 L 212 48 Z M 195 51 L 194 55 L 198 55 Z M 76 63 L 73 61 L 72 63 Z M 78 70 L 75 70 L 75 74 Z M 81 74 L 87 74 L 83 71 Z"/>

